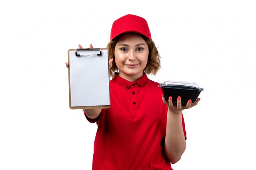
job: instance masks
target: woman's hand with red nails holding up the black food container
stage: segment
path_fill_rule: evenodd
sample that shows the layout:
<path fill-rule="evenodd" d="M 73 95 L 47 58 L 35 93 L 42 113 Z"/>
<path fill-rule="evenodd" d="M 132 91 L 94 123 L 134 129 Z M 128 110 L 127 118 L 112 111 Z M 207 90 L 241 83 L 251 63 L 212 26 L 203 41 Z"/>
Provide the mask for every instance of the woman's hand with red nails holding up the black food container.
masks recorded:
<path fill-rule="evenodd" d="M 173 113 L 182 113 L 182 110 L 184 109 L 188 109 L 188 108 L 192 108 L 194 106 L 196 106 L 198 104 L 198 102 L 200 101 L 200 98 L 198 98 L 195 103 L 192 104 L 192 100 L 189 99 L 189 101 L 187 102 L 186 105 L 181 104 L 181 97 L 179 96 L 177 98 L 177 103 L 173 104 L 173 99 L 170 96 L 168 99 L 168 102 L 165 100 L 164 95 L 162 95 L 162 100 L 164 102 L 164 104 L 166 104 L 168 106 L 168 109 L 173 112 Z"/>

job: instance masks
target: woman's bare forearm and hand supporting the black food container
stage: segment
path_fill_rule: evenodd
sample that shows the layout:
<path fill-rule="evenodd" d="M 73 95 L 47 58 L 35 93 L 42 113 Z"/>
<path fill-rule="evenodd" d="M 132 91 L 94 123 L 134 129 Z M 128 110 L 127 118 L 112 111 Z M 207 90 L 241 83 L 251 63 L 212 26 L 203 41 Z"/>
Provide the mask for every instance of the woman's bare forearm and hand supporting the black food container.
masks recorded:
<path fill-rule="evenodd" d="M 164 104 L 168 106 L 164 153 L 171 163 L 176 163 L 186 149 L 186 140 L 182 128 L 182 110 L 197 105 L 200 99 L 197 99 L 194 104 L 191 104 L 191 100 L 189 100 L 185 106 L 181 104 L 180 97 L 178 97 L 177 105 L 173 104 L 171 97 L 169 97 L 168 102 L 166 102 L 163 95 L 162 99 Z"/>

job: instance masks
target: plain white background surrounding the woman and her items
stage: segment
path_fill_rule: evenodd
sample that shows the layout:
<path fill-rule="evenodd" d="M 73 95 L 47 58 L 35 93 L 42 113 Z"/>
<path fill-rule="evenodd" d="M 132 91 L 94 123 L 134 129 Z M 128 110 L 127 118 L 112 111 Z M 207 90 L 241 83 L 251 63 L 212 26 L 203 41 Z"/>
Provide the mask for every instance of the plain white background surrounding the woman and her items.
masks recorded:
<path fill-rule="evenodd" d="M 166 2 L 1 3 L 1 170 L 91 169 L 97 125 L 69 108 L 67 51 L 106 47 L 112 22 L 128 13 L 148 21 L 162 56 L 150 79 L 204 87 L 184 111 L 187 148 L 173 169 L 256 169 L 256 4 Z"/>

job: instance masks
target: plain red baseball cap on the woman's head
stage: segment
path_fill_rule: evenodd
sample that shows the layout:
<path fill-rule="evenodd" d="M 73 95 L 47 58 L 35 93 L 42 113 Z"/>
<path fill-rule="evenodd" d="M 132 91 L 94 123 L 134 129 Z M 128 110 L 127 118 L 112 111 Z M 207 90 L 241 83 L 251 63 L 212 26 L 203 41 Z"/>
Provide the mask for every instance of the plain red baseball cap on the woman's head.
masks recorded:
<path fill-rule="evenodd" d="M 147 21 L 144 18 L 131 14 L 124 15 L 113 22 L 110 40 L 113 40 L 118 35 L 129 32 L 139 33 L 151 40 L 151 34 Z"/>

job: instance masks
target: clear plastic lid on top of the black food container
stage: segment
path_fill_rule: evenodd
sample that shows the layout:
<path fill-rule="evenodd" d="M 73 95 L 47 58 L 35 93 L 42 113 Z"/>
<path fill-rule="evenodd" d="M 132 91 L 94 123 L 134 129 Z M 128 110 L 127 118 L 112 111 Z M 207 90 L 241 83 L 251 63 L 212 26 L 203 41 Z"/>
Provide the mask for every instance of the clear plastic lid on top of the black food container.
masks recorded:
<path fill-rule="evenodd" d="M 166 81 L 163 84 L 160 83 L 159 87 L 166 88 L 179 88 L 179 89 L 188 89 L 188 90 L 198 90 L 203 91 L 204 88 L 201 88 L 195 82 L 182 82 L 182 81 Z"/>

